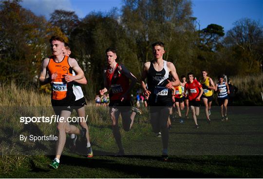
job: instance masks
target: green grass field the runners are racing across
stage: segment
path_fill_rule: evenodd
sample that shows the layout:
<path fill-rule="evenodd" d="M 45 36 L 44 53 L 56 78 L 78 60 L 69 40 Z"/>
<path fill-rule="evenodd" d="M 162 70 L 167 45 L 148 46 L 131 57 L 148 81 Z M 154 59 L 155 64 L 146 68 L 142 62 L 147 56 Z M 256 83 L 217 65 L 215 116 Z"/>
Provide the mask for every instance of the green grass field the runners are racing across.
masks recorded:
<path fill-rule="evenodd" d="M 28 110 L 24 113 L 33 113 Z M 81 150 L 72 153 L 66 147 L 57 170 L 47 166 L 53 156 L 40 155 L 45 147 L 51 149 L 54 145 L 43 143 L 45 147 L 38 154 L 23 155 L 25 148 L 16 138 L 24 132 L 23 126 L 15 122 L 18 114 L 10 114 L 8 119 L 12 125 L 4 120 L 6 122 L 0 127 L 0 177 L 263 178 L 263 108 L 229 108 L 229 120 L 221 121 L 218 107 L 213 106 L 210 125 L 205 120 L 203 108 L 200 112 L 198 130 L 194 128 L 191 117 L 184 124 L 179 124 L 178 120 L 172 123 L 169 130 L 169 162 L 163 162 L 160 158 L 161 138 L 151 131 L 146 109 L 144 115 L 136 116 L 131 131 L 121 129 L 123 146 L 129 156 L 118 158 L 112 156 L 117 152 L 117 146 L 107 109 L 87 107 L 94 157 L 87 159 L 81 155 Z M 38 129 L 45 129 L 44 133 L 56 131 L 55 125 L 45 127 L 38 124 Z M 24 145 L 28 151 L 36 149 L 31 143 Z M 19 152 L 11 156 L 10 150 Z"/>

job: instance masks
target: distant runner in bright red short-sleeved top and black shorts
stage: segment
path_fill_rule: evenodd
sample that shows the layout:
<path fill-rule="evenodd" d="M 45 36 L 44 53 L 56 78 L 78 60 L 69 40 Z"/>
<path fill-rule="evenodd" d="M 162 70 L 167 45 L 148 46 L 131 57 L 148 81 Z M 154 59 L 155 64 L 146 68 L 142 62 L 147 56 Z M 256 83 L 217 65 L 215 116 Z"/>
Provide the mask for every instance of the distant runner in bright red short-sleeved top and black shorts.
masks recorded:
<path fill-rule="evenodd" d="M 187 76 L 189 81 L 185 84 L 185 94 L 188 94 L 189 106 L 191 107 L 195 127 L 198 129 L 196 116 L 199 115 L 200 98 L 204 90 L 201 83 L 194 79 L 193 73 L 188 73 Z"/>

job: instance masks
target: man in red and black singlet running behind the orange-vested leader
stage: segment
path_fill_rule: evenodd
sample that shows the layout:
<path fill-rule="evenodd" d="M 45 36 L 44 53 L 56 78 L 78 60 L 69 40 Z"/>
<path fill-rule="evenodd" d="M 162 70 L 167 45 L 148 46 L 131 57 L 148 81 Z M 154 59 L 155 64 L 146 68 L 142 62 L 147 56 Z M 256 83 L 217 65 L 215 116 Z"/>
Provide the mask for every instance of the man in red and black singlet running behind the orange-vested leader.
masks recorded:
<path fill-rule="evenodd" d="M 141 115 L 142 111 L 132 107 L 132 113 L 130 113 L 130 91 L 137 81 L 136 77 L 134 77 L 124 65 L 120 65 L 116 62 L 116 49 L 108 48 L 105 53 L 108 67 L 104 71 L 104 88 L 99 92 L 100 95 L 103 95 L 110 91 L 109 107 L 113 126 L 113 136 L 119 148 L 117 156 L 121 156 L 124 155 L 124 149 L 121 143 L 121 135 L 118 126 L 119 115 L 121 114 L 122 116 L 123 129 L 129 131 L 135 115 Z"/>

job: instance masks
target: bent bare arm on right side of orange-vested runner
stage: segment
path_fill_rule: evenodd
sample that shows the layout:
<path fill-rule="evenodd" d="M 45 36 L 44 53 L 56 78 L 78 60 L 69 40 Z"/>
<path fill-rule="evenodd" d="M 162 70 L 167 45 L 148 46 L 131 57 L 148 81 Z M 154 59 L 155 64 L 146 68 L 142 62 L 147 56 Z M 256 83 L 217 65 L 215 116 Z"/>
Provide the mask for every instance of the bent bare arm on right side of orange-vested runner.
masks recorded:
<path fill-rule="evenodd" d="M 79 65 L 77 64 L 77 61 L 74 58 L 69 57 L 69 65 L 74 69 L 74 71 L 76 72 L 76 75 L 71 76 L 71 75 L 65 74 L 65 80 L 67 82 L 80 80 L 84 77 L 84 72 L 79 67 Z"/>

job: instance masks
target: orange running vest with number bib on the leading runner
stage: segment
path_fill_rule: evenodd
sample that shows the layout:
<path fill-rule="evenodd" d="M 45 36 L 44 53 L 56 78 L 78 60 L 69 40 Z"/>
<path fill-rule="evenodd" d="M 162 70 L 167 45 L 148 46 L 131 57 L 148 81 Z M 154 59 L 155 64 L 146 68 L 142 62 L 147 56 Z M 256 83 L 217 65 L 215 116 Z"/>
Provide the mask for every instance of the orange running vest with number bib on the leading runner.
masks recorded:
<path fill-rule="evenodd" d="M 72 76 L 72 67 L 69 65 L 68 56 L 64 56 L 59 63 L 51 57 L 48 64 L 48 72 L 51 78 L 53 73 L 57 74 L 55 80 L 52 80 L 52 99 L 61 100 L 67 97 L 67 92 L 72 91 L 72 85 L 65 81 L 65 74 Z"/>

